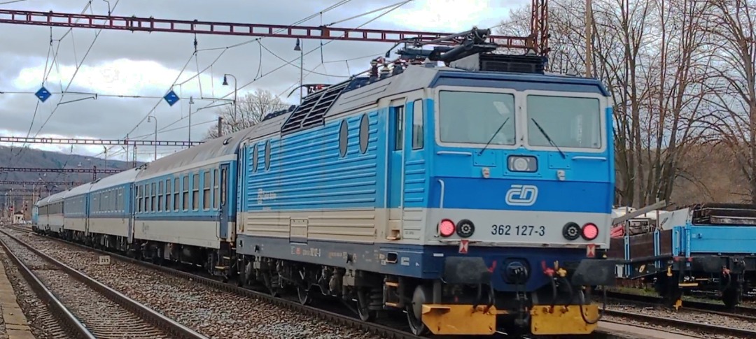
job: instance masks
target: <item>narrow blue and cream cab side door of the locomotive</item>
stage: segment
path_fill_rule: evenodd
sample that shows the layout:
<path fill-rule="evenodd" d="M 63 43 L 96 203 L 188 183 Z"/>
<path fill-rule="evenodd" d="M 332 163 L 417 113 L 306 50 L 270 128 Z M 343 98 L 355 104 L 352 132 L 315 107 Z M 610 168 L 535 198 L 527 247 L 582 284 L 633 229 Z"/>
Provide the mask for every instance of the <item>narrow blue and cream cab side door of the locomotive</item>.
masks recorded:
<path fill-rule="evenodd" d="M 388 176 L 386 177 L 386 208 L 389 210 L 386 239 L 401 239 L 402 192 L 404 191 L 404 139 L 406 123 L 405 98 L 392 100 L 389 106 L 389 128 L 387 149 Z"/>

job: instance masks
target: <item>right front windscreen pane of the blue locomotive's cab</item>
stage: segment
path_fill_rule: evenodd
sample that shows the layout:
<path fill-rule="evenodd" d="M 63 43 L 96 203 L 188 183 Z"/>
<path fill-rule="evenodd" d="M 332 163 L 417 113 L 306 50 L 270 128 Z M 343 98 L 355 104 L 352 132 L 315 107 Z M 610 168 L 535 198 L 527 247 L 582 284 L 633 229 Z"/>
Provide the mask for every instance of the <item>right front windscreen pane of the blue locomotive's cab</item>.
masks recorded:
<path fill-rule="evenodd" d="M 528 145 L 601 148 L 598 99 L 528 95 L 527 111 Z"/>

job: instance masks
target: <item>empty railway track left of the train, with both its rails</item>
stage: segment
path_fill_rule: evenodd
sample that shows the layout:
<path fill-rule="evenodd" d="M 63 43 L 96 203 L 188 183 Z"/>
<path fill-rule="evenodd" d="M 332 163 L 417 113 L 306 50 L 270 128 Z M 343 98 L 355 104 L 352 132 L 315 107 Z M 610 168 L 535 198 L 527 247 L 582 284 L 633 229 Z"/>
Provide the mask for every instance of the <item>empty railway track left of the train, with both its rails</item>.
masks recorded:
<path fill-rule="evenodd" d="M 52 336 L 207 339 L 118 291 L 36 250 L 5 230 L 0 245 L 59 326 Z"/>

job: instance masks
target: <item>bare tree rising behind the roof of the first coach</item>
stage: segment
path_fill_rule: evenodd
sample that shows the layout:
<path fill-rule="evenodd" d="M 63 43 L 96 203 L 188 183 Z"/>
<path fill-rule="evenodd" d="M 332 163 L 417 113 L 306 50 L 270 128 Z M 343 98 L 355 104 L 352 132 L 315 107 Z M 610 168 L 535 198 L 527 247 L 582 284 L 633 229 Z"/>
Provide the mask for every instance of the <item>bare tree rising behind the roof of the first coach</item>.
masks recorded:
<path fill-rule="evenodd" d="M 223 106 L 218 110 L 222 121 L 223 134 L 231 134 L 244 128 L 252 127 L 270 112 L 285 109 L 289 105 L 283 103 L 270 91 L 257 89 L 253 93 L 244 94 L 237 102 L 237 106 Z M 207 131 L 207 139 L 218 137 L 218 128 L 213 126 Z"/>

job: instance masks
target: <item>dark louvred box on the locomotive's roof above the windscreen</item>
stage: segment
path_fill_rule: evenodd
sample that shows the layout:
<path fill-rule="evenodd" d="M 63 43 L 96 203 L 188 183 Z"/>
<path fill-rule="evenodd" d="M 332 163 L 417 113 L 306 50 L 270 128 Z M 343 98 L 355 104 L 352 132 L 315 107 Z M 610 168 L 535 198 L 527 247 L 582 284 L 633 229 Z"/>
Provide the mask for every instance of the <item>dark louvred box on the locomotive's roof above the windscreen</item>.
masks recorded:
<path fill-rule="evenodd" d="M 546 59 L 538 55 L 481 53 L 454 61 L 451 66 L 469 71 L 544 74 Z"/>

